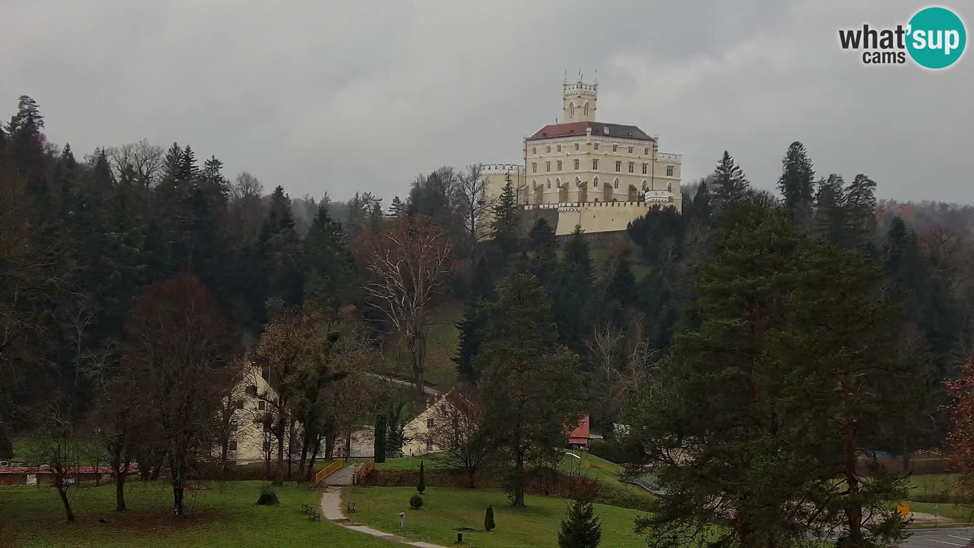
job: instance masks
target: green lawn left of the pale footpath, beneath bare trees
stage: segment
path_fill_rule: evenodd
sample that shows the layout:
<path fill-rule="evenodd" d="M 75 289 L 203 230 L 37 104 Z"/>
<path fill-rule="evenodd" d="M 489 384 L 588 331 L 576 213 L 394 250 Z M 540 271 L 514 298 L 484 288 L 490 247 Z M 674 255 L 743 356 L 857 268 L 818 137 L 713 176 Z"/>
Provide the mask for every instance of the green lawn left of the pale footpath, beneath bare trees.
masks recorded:
<path fill-rule="evenodd" d="M 114 486 L 70 489 L 76 521 L 64 519 L 54 488 L 0 487 L 0 546 L 145 547 L 237 546 L 390 548 L 395 546 L 330 522 L 312 522 L 301 502 L 318 507 L 319 491 L 295 485 L 278 488 L 281 504 L 254 504 L 265 482 L 207 484 L 187 493 L 192 512 L 171 516 L 172 491 L 164 483 L 132 482 L 130 510 L 115 512 Z M 98 523 L 102 518 L 105 523 Z"/>

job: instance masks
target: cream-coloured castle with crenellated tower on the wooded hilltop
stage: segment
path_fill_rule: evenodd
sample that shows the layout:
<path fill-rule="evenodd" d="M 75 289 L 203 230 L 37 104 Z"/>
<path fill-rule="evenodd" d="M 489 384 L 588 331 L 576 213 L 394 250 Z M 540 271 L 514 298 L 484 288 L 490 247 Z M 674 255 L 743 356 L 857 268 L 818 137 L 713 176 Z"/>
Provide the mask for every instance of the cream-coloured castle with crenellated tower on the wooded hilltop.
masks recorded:
<path fill-rule="evenodd" d="M 487 193 L 509 180 L 517 204 L 557 219 L 555 234 L 625 230 L 655 204 L 682 211 L 682 156 L 637 126 L 596 121 L 598 81 L 562 83 L 563 122 L 524 139 L 523 164 L 484 164 Z M 556 215 L 555 215 L 556 211 Z"/>

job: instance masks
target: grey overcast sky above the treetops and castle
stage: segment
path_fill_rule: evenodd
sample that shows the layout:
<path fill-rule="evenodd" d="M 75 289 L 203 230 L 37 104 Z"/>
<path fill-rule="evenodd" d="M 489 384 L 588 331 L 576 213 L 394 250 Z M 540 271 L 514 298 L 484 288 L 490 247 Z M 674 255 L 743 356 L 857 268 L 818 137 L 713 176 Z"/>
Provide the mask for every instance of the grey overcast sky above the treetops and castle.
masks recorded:
<path fill-rule="evenodd" d="M 388 204 L 440 165 L 522 163 L 565 71 L 597 69 L 599 121 L 659 136 L 685 184 L 727 148 L 772 188 L 798 139 L 819 176 L 974 203 L 972 54 L 934 72 L 839 47 L 839 28 L 906 23 L 916 1 L 151 4 L 0 0 L 0 113 L 27 94 L 76 153 L 177 140 L 268 190 Z M 970 33 L 974 7 L 945 6 Z"/>

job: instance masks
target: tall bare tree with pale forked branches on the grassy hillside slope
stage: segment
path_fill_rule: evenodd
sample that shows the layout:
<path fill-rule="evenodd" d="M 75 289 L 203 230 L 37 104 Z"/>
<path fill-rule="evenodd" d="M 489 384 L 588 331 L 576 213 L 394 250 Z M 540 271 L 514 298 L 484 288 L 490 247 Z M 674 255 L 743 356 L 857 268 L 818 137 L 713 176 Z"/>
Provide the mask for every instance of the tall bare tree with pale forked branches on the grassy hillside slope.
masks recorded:
<path fill-rule="evenodd" d="M 450 279 L 453 244 L 429 217 L 409 215 L 377 234 L 359 235 L 356 251 L 369 276 L 363 288 L 405 340 L 422 398 L 427 325 L 432 303 Z"/>

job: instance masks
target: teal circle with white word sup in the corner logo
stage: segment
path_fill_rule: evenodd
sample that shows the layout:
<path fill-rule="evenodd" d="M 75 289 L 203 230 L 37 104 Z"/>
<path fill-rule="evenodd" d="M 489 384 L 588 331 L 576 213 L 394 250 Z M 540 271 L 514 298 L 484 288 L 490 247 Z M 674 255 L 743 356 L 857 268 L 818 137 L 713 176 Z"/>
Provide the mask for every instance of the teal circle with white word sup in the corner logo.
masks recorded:
<path fill-rule="evenodd" d="M 920 66 L 946 68 L 964 53 L 964 23 L 946 8 L 925 8 L 910 20 L 907 51 Z"/>

